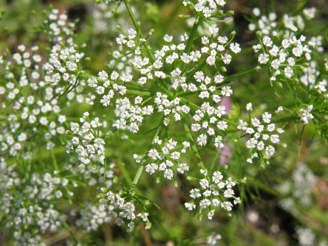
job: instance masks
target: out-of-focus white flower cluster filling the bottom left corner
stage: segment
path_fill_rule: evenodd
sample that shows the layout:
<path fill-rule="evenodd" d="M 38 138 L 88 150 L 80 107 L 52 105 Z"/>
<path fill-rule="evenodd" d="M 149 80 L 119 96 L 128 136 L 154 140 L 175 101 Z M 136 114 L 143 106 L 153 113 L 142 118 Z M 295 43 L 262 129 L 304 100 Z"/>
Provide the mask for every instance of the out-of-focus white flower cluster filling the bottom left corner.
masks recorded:
<path fill-rule="evenodd" d="M 0 208 L 9 221 L 7 229 L 14 230 L 14 238 L 22 245 L 43 245 L 36 233 L 57 232 L 66 220 L 65 215 L 54 209 L 53 201 L 72 196 L 68 187 L 76 184 L 69 184 L 69 180 L 60 178 L 58 173 L 40 175 L 33 172 L 21 178 L 19 168 L 8 165 L 3 157 L 0 169 L 0 191 L 3 194 Z M 31 226 L 37 228 L 32 234 L 27 229 Z"/>

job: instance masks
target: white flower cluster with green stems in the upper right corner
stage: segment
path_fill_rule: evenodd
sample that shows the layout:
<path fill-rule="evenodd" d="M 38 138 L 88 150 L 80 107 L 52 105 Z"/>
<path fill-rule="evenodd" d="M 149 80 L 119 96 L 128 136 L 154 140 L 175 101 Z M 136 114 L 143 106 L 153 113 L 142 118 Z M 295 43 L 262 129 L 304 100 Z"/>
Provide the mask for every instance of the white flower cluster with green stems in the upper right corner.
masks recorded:
<path fill-rule="evenodd" d="M 253 10 L 255 16 L 260 15 L 259 9 L 255 8 Z M 304 15 L 307 19 L 312 19 L 314 17 L 315 9 L 304 9 Z M 302 70 L 305 74 L 311 72 L 312 70 L 307 69 L 308 63 L 297 65 L 296 61 L 301 58 L 305 60 L 311 60 L 311 53 L 322 52 L 322 36 L 311 37 L 310 40 L 305 43 L 306 36 L 300 35 L 299 38 L 294 34 L 298 28 L 300 30 L 304 29 L 303 18 L 300 15 L 296 17 L 290 17 L 287 14 L 283 16 L 283 23 L 285 25 L 285 32 L 282 30 L 279 32 L 275 31 L 277 28 L 277 23 L 274 21 L 277 18 L 275 13 L 270 13 L 269 17 L 261 16 L 255 23 L 249 24 L 249 29 L 251 31 L 260 30 L 257 32 L 259 38 L 259 44 L 253 45 L 253 49 L 256 53 L 262 51 L 258 55 L 258 62 L 260 64 L 269 64 L 270 80 L 276 81 L 277 77 L 283 79 L 290 79 L 294 77 L 296 70 Z M 294 23 L 295 22 L 295 23 Z M 296 24 L 297 26 L 295 26 Z M 297 28 L 298 27 L 298 28 Z M 264 36 L 262 37 L 262 35 Z M 281 40 L 280 37 L 283 37 Z M 313 66 L 312 66 L 313 67 Z M 313 84 L 314 81 L 307 75 L 301 77 L 301 81 L 305 85 Z M 308 80 L 308 83 L 306 81 Z M 326 82 L 324 83 L 327 84 Z M 280 85 L 281 86 L 281 85 Z"/>

